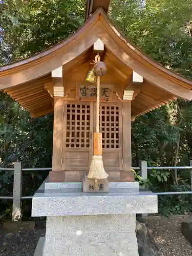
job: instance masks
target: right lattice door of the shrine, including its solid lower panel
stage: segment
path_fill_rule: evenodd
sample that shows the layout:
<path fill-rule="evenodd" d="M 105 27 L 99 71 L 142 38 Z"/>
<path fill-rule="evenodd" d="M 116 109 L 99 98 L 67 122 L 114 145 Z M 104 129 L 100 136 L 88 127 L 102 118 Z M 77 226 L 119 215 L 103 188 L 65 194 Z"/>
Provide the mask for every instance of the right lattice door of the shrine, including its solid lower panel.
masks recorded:
<path fill-rule="evenodd" d="M 121 103 L 101 103 L 100 131 L 102 132 L 102 151 L 105 169 L 122 170 Z"/>

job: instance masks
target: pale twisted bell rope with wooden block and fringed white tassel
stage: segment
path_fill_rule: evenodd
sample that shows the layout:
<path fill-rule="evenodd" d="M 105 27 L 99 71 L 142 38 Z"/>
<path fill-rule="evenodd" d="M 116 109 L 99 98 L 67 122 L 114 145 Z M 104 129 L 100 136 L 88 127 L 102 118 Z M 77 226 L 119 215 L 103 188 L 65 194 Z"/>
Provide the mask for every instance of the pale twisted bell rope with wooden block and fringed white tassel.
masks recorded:
<path fill-rule="evenodd" d="M 95 62 L 100 61 L 99 55 L 95 57 Z M 99 117 L 100 117 L 100 76 L 97 76 L 97 108 L 96 108 L 96 133 L 94 133 L 94 152 L 88 174 L 89 179 L 94 179 L 95 184 L 97 180 L 108 178 L 108 174 L 105 173 L 102 160 L 102 133 L 99 129 Z"/>

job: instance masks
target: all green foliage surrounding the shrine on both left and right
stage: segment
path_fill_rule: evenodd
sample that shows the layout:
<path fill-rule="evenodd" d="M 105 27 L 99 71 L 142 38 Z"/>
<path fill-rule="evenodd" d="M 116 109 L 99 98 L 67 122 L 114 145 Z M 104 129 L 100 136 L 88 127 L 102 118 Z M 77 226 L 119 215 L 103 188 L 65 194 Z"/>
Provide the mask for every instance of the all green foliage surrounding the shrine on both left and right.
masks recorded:
<path fill-rule="evenodd" d="M 84 20 L 83 0 L 0 1 L 0 65 L 45 50 L 74 33 Z M 192 78 L 192 2 L 189 0 L 113 0 L 109 16 L 117 27 L 147 55 L 168 69 Z M 53 115 L 31 119 L 22 106 L 0 94 L 0 165 L 22 161 L 24 167 L 50 167 Z M 148 166 L 188 165 L 192 158 L 192 103 L 178 100 L 138 117 L 132 127 L 132 160 Z M 177 146 L 178 152 L 177 152 Z M 23 195 L 32 195 L 47 173 L 24 173 Z M 136 180 L 153 191 L 189 189 L 188 171 L 148 172 Z M 178 184 L 176 184 L 177 180 Z M 1 195 L 12 195 L 12 172 L 0 173 Z M 191 210 L 190 197 L 159 197 L 159 212 Z M 0 211 L 9 203 L 0 204 Z M 26 215 L 29 205 L 25 203 Z M 30 215 L 30 213 L 29 213 Z"/>

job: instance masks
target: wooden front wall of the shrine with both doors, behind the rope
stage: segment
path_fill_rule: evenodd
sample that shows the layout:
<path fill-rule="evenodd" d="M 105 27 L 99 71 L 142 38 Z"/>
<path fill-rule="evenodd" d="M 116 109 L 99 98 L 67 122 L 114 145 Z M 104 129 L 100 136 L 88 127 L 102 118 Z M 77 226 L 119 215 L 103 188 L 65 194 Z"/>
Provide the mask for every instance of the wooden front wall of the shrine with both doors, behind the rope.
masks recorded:
<path fill-rule="evenodd" d="M 131 100 L 119 99 L 121 92 L 114 87 L 104 84 L 102 88 L 100 131 L 104 168 L 109 174 L 110 181 L 133 181 Z M 71 89 L 64 97 L 55 97 L 54 100 L 53 160 L 50 179 L 81 181 L 90 168 L 93 156 L 93 133 L 96 127 L 95 89 L 93 86 L 84 88 L 80 84 L 80 87 Z"/>

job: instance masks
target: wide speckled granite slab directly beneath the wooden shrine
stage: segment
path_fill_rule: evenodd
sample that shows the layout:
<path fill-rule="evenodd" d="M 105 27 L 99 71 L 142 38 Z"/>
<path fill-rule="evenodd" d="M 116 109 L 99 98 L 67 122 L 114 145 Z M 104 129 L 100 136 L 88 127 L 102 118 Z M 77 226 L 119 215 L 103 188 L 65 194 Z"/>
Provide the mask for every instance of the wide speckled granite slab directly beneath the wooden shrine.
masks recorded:
<path fill-rule="evenodd" d="M 38 189 L 32 199 L 32 217 L 157 212 L 157 195 L 126 188 L 126 182 L 117 183 L 110 184 L 109 193 L 83 193 L 82 188 L 71 188 L 71 184 L 69 188 Z"/>

